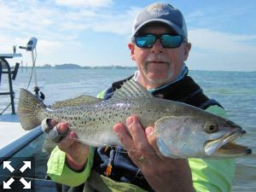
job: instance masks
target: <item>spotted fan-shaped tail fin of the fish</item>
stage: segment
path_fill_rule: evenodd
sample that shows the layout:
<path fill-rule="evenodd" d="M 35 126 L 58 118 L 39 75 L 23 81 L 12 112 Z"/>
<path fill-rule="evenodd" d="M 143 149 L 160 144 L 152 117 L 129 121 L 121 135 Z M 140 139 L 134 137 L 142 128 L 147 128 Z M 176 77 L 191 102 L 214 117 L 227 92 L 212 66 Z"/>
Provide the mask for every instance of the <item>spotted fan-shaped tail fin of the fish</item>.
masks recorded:
<path fill-rule="evenodd" d="M 17 114 L 20 124 L 24 130 L 32 130 L 41 122 L 44 117 L 44 109 L 46 105 L 37 96 L 25 89 L 20 89 L 20 98 Z"/>

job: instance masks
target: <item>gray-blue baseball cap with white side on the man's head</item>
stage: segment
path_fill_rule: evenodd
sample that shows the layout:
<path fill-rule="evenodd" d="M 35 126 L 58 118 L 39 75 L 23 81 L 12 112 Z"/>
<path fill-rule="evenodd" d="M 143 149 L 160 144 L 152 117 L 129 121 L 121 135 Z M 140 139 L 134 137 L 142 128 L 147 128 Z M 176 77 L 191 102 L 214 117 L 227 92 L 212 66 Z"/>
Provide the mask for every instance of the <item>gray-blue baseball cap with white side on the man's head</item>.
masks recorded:
<path fill-rule="evenodd" d="M 132 27 L 131 37 L 137 34 L 143 26 L 151 22 L 162 22 L 170 26 L 177 34 L 188 38 L 188 31 L 183 14 L 168 3 L 153 3 L 141 10 Z"/>

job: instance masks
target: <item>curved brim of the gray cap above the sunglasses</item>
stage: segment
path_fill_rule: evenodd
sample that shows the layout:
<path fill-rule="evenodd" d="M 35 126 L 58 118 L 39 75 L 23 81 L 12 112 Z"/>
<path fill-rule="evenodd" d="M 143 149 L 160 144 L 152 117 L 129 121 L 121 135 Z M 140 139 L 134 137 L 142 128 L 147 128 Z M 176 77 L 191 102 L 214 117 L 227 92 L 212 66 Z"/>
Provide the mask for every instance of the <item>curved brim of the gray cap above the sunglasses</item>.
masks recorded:
<path fill-rule="evenodd" d="M 137 30 L 132 32 L 131 37 L 134 37 L 134 35 L 136 35 L 136 33 L 141 30 L 143 28 L 143 26 L 146 26 L 148 23 L 153 23 L 153 22 L 160 22 L 160 23 L 164 23 L 167 26 L 170 26 L 175 32 L 177 32 L 177 34 L 183 36 L 184 38 L 186 38 L 183 30 L 175 25 L 174 23 L 170 22 L 169 20 L 163 20 L 163 19 L 152 19 L 152 20 L 147 20 L 145 22 L 143 22 L 141 25 L 137 26 Z"/>

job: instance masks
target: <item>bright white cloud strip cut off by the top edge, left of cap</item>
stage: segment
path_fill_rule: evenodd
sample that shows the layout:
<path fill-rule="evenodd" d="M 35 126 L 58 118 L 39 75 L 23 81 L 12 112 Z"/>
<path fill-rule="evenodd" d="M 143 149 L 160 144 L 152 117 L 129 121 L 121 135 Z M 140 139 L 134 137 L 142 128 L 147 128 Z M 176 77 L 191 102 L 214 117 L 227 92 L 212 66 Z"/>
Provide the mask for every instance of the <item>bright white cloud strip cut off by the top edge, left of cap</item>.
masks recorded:
<path fill-rule="evenodd" d="M 108 7 L 113 3 L 112 0 L 55 0 L 57 5 L 65 5 L 71 7 Z"/>

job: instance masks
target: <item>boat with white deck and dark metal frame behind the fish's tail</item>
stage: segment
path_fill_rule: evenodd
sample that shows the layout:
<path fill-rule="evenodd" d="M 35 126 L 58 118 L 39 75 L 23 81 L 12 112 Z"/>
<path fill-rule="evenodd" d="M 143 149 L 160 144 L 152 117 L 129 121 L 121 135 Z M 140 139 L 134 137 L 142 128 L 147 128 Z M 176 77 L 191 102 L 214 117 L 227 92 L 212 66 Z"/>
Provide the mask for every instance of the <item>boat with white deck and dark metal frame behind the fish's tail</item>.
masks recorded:
<path fill-rule="evenodd" d="M 34 43 L 35 38 L 32 38 L 25 47 L 26 50 L 32 51 Z M 33 45 L 34 48 L 31 49 Z M 49 149 L 41 126 L 32 131 L 24 131 L 15 113 L 15 91 L 12 83 L 20 64 L 16 63 L 15 68 L 11 69 L 8 60 L 18 56 L 22 55 L 15 51 L 12 54 L 0 54 L 0 98 L 9 95 L 10 103 L 7 108 L 11 107 L 11 110 L 4 108 L 0 113 L 0 191 L 60 191 L 61 185 L 51 181 L 46 173 L 47 160 L 54 146 L 51 145 Z M 6 78 L 5 75 L 9 91 L 1 92 L 1 79 Z"/>

